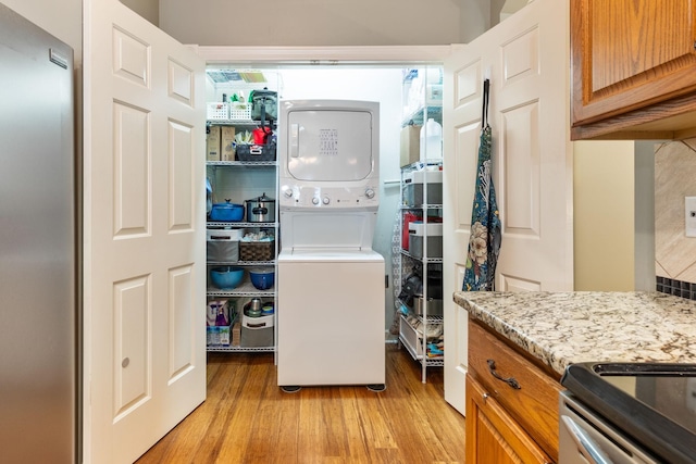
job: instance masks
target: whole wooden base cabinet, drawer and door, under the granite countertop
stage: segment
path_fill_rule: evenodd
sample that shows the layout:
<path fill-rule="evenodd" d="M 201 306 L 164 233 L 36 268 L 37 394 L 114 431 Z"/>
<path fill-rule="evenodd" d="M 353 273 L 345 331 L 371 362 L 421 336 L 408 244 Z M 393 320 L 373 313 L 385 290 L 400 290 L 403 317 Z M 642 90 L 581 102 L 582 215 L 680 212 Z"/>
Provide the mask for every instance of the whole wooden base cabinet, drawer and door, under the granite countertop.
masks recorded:
<path fill-rule="evenodd" d="M 557 461 L 557 377 L 469 321 L 467 462 Z"/>

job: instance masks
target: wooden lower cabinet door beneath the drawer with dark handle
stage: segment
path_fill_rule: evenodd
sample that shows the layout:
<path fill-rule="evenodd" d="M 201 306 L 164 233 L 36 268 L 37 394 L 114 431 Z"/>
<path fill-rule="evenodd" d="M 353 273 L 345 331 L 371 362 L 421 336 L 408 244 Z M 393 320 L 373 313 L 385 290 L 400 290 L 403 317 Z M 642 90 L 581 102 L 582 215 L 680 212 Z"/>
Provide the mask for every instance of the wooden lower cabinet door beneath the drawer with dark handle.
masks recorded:
<path fill-rule="evenodd" d="M 550 463 L 551 460 L 484 388 L 467 375 L 467 463 Z"/>

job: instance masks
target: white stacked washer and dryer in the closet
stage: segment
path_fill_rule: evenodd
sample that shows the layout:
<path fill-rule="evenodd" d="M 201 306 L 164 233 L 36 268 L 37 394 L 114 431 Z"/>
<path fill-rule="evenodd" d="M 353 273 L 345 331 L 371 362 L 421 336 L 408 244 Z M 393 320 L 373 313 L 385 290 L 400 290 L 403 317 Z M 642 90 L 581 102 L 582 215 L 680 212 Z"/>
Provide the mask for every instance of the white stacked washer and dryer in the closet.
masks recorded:
<path fill-rule="evenodd" d="M 278 122 L 277 381 L 385 387 L 380 105 L 288 100 Z"/>

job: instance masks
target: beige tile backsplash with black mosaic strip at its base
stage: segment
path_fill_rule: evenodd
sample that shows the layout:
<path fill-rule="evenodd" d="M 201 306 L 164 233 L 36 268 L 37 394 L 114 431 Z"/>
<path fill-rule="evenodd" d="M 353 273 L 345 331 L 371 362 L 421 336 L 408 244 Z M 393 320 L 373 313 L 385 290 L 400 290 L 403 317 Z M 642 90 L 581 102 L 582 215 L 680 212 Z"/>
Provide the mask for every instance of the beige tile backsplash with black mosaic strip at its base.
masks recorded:
<path fill-rule="evenodd" d="M 656 289 L 691 299 L 696 299 L 696 238 L 684 234 L 684 197 L 695 196 L 696 138 L 656 146 Z"/>

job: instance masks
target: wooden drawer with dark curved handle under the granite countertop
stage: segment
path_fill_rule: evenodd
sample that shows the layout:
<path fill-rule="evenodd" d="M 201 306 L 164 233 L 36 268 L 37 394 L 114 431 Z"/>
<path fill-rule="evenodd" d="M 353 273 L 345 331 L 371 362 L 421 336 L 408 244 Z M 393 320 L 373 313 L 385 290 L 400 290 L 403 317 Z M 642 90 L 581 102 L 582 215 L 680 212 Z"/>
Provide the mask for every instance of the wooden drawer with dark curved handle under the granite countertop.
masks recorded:
<path fill-rule="evenodd" d="M 513 378 L 513 388 L 495 374 Z M 561 386 L 496 336 L 469 322 L 469 372 L 552 460 L 558 460 L 558 393 Z"/>

